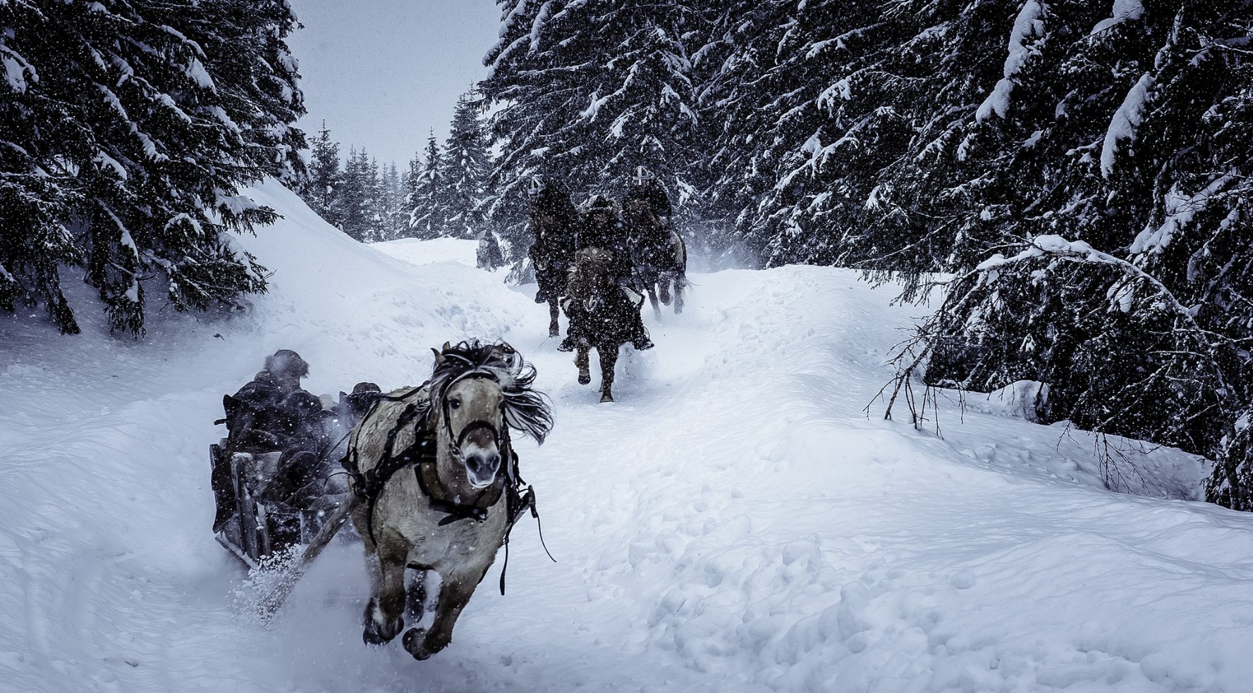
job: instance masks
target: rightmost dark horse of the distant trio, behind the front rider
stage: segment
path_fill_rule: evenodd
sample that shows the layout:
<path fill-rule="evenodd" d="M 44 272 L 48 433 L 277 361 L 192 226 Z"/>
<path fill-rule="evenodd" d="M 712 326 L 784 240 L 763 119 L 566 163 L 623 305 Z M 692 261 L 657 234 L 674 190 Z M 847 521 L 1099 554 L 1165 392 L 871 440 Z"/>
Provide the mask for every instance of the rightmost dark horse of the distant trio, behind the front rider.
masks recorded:
<path fill-rule="evenodd" d="M 660 318 L 658 298 L 670 305 L 674 291 L 674 313 L 683 313 L 683 290 L 688 285 L 688 249 L 683 236 L 663 224 L 644 200 L 629 200 L 623 219 L 632 240 L 632 261 L 635 285 L 648 293 L 653 313 Z"/>

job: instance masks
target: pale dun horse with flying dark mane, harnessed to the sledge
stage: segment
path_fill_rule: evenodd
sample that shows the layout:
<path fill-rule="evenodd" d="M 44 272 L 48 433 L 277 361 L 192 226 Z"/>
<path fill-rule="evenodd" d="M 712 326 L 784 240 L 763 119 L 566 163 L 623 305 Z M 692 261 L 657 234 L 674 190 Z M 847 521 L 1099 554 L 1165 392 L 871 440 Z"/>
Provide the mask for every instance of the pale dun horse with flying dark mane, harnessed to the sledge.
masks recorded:
<path fill-rule="evenodd" d="M 345 465 L 363 498 L 352 513 L 365 540 L 371 597 L 363 639 L 385 643 L 405 625 L 405 568 L 441 584 L 430 630 L 410 628 L 417 659 L 444 649 L 520 512 L 510 429 L 544 440 L 550 405 L 535 369 L 507 344 L 444 345 L 431 379 L 385 395 L 353 430 Z"/>

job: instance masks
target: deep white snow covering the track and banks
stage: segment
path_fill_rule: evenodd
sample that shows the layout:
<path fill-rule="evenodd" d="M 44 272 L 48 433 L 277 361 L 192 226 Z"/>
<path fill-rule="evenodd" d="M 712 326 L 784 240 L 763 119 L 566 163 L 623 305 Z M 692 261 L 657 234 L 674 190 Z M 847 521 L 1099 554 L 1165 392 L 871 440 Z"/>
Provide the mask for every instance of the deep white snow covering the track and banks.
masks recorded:
<path fill-rule="evenodd" d="M 154 314 L 139 343 L 90 310 L 73 338 L 0 320 L 0 690 L 1249 689 L 1253 515 L 1180 499 L 1203 470 L 1174 450 L 1105 490 L 1090 437 L 1011 398 L 947 404 L 942 438 L 882 420 L 922 310 L 891 289 L 695 275 L 599 404 L 472 241 L 362 246 L 253 194 L 286 219 L 242 240 L 274 273 L 249 310 Z M 416 384 L 467 336 L 509 340 L 554 400 L 520 454 L 559 563 L 524 520 L 507 594 L 497 562 L 429 662 L 361 643 L 350 544 L 262 627 L 209 534 L 222 394 L 278 348 L 315 393 Z"/>

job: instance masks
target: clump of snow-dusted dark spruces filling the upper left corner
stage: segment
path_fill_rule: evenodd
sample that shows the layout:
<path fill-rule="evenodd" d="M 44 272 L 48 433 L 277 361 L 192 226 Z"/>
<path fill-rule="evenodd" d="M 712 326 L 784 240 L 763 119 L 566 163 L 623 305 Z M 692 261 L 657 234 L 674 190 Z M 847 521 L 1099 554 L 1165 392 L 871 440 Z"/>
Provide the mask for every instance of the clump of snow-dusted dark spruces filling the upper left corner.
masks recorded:
<path fill-rule="evenodd" d="M 0 309 L 79 331 L 75 266 L 135 335 L 150 286 L 177 310 L 264 290 L 229 231 L 273 219 L 241 185 L 304 174 L 293 25 L 281 0 L 0 4 Z"/>

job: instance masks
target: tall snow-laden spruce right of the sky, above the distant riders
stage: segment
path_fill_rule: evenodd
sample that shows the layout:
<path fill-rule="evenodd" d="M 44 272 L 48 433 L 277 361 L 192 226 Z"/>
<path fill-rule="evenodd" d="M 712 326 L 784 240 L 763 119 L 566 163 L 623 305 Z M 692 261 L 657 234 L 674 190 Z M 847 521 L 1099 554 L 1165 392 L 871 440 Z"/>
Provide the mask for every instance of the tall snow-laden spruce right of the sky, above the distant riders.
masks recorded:
<path fill-rule="evenodd" d="M 620 195 L 630 171 L 659 176 L 677 214 L 699 204 L 702 143 L 692 60 L 684 38 L 704 21 L 693 4 L 669 0 L 499 0 L 501 38 L 479 88 L 499 106 L 501 145 L 490 211 L 501 234 L 525 248 L 524 181 L 564 181 L 576 201 Z"/>

